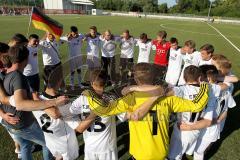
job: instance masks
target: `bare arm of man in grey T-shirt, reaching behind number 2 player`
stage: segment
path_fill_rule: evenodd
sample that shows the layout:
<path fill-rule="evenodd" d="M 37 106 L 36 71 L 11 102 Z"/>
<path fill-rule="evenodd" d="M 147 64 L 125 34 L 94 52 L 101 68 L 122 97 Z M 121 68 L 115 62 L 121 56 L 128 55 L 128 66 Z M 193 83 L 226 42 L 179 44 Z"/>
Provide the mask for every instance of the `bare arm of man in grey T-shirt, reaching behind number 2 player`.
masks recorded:
<path fill-rule="evenodd" d="M 27 98 L 27 92 L 24 89 L 15 90 L 13 99 L 15 102 L 13 106 L 16 106 L 16 109 L 21 111 L 43 110 L 52 106 L 64 105 L 69 101 L 66 96 L 60 96 L 53 100 L 30 100 Z"/>

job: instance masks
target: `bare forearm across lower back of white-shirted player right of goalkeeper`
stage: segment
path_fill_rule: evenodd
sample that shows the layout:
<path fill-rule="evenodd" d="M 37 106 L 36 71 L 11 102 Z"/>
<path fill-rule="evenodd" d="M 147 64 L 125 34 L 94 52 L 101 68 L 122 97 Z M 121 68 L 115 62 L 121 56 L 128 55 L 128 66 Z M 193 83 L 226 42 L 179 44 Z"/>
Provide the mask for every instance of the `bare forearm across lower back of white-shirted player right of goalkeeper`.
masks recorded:
<path fill-rule="evenodd" d="M 192 131 L 192 130 L 199 130 L 199 129 L 203 129 L 203 128 L 207 128 L 209 126 L 211 126 L 212 124 L 212 120 L 209 119 L 201 119 L 200 121 L 197 121 L 193 124 L 187 124 L 187 123 L 180 123 L 179 129 L 182 131 Z"/>

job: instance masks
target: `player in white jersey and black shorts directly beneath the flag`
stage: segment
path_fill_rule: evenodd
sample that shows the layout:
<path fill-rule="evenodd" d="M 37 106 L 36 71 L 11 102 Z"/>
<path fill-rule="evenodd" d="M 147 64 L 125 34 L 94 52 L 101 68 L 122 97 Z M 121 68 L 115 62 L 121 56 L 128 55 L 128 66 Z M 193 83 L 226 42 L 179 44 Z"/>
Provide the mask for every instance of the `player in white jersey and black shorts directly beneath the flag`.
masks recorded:
<path fill-rule="evenodd" d="M 40 41 L 39 47 L 42 49 L 45 83 L 48 79 L 56 78 L 62 81 L 61 89 L 64 89 L 65 84 L 59 55 L 59 43 L 56 42 L 55 36 L 51 33 L 47 33 L 46 38 Z"/>

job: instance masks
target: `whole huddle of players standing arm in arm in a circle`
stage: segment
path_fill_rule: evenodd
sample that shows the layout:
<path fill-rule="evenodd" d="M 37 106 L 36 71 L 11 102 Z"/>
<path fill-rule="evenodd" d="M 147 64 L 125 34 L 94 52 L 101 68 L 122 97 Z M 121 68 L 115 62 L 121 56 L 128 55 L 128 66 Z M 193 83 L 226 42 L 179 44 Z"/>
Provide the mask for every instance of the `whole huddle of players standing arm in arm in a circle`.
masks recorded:
<path fill-rule="evenodd" d="M 132 159 L 178 160 L 184 154 L 204 159 L 206 149 L 220 138 L 228 108 L 236 105 L 232 91 L 238 78 L 231 72 L 231 62 L 214 54 L 212 45 L 203 45 L 198 52 L 192 40 L 179 47 L 176 38 L 166 38 L 165 31 L 159 31 L 156 40 L 148 39 L 145 33 L 134 38 L 128 30 L 121 36 L 110 30 L 101 35 L 95 26 L 89 33 L 79 34 L 72 26 L 59 41 L 51 33 L 40 42 L 36 34 L 29 39 L 15 34 L 8 45 L 0 43 L 0 117 L 19 158 L 31 160 L 36 143 L 42 146 L 45 160 L 76 159 L 79 132 L 85 143 L 84 159 L 118 159 L 117 115 L 120 121 L 129 120 Z M 87 43 L 86 64 L 91 72 L 90 89 L 70 103 L 60 92 L 65 90 L 59 56 L 59 45 L 64 42 L 69 48 L 71 89 L 75 89 L 75 72 L 78 85 L 84 89 L 83 42 Z M 118 44 L 120 78 L 115 71 Z M 139 53 L 134 65 L 135 46 Z M 41 94 L 40 48 L 45 86 Z M 154 64 L 150 63 L 151 50 L 156 50 Z M 116 87 L 132 77 L 134 85 L 127 83 L 121 97 L 104 92 L 108 82 Z M 159 79 L 167 85 L 157 83 Z M 170 122 L 174 127 L 169 144 Z"/>

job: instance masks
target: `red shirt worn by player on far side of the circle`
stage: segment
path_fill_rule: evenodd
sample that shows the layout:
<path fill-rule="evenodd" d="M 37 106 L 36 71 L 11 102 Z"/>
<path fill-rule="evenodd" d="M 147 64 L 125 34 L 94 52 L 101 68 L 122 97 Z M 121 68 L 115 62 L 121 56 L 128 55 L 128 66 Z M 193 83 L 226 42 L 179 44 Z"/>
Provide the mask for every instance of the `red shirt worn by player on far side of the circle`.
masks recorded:
<path fill-rule="evenodd" d="M 170 42 L 164 44 L 159 43 L 157 40 L 153 40 L 152 44 L 156 46 L 156 55 L 154 58 L 154 64 L 167 66 L 168 65 L 168 52 L 171 48 Z"/>

